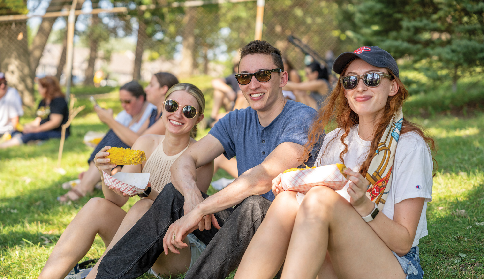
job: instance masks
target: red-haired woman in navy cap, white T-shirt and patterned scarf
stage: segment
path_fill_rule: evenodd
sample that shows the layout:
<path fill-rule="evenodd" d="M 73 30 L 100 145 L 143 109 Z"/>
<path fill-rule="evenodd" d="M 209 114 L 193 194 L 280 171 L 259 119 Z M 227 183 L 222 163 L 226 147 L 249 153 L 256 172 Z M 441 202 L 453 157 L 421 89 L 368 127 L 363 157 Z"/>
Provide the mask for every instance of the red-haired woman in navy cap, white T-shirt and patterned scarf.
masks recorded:
<path fill-rule="evenodd" d="M 422 279 L 419 239 L 427 235 L 434 141 L 402 114 L 408 91 L 393 57 L 379 47 L 341 54 L 339 82 L 308 136 L 311 150 L 334 120 L 317 166 L 344 163 L 340 191 L 315 186 L 277 195 L 245 251 L 235 279 Z"/>

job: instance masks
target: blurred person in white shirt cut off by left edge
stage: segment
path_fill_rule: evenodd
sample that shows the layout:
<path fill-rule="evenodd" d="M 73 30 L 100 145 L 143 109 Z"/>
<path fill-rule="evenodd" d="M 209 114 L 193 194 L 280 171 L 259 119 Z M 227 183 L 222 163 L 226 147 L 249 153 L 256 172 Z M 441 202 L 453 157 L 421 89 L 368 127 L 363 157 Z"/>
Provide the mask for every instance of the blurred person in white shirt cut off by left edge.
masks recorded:
<path fill-rule="evenodd" d="M 10 137 L 15 135 L 18 119 L 22 115 L 24 110 L 18 91 L 7 86 L 5 75 L 0 73 L 0 137 L 6 133 Z"/>

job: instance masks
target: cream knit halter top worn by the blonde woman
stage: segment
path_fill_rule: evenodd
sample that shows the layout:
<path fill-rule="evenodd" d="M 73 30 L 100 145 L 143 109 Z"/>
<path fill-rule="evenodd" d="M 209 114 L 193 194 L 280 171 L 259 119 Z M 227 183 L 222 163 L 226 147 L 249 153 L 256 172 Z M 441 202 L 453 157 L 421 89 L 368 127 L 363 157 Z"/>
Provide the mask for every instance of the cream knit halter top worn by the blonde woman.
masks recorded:
<path fill-rule="evenodd" d="M 171 182 L 171 172 L 170 168 L 173 165 L 173 162 L 180 157 L 180 155 L 185 151 L 190 143 L 177 155 L 168 156 L 163 151 L 163 140 L 161 140 L 160 144 L 156 147 L 153 151 L 151 156 L 145 163 L 145 167 L 141 172 L 150 173 L 150 183 L 151 187 L 158 192 L 163 190 L 163 187 Z M 191 141 L 190 141 L 191 142 Z"/>

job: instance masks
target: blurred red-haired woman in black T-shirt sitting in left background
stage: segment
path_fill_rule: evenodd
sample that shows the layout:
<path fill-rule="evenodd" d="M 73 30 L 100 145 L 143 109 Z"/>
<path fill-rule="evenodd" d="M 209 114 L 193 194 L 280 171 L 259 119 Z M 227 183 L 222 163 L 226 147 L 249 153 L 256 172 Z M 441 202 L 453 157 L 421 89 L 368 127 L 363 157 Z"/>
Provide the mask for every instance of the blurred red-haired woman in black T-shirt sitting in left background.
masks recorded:
<path fill-rule="evenodd" d="M 37 109 L 34 121 L 25 124 L 22 133 L 16 134 L 11 140 L 0 144 L 0 148 L 18 146 L 30 140 L 48 140 L 61 138 L 62 124 L 69 119 L 69 108 L 65 95 L 61 91 L 59 81 L 55 77 L 38 78 L 39 95 L 42 100 Z M 65 137 L 70 135 L 70 127 L 65 130 Z"/>

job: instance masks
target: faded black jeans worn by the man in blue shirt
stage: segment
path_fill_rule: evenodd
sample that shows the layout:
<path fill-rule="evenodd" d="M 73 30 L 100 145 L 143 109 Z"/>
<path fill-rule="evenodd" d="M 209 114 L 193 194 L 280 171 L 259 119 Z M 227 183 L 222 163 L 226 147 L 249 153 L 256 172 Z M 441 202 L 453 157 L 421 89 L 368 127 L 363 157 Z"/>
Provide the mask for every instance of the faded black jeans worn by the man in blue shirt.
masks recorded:
<path fill-rule="evenodd" d="M 96 278 L 136 278 L 148 271 L 163 252 L 168 226 L 184 215 L 183 202 L 181 193 L 167 184 L 146 214 L 107 252 Z M 215 213 L 220 230 L 213 226 L 208 231 L 195 230 L 193 234 L 207 248 L 185 279 L 225 279 L 239 265 L 270 205 L 261 196 L 250 196 L 235 208 Z"/>

